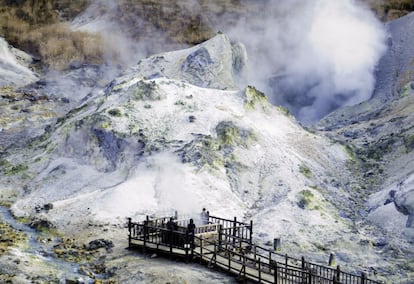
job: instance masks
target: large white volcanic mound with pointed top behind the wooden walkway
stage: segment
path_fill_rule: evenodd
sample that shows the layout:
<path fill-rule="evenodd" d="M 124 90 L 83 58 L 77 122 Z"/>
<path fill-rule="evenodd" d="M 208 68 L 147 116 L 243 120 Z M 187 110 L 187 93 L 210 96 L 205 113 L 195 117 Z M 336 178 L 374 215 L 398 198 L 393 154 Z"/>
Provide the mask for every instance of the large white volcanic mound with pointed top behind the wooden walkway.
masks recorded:
<path fill-rule="evenodd" d="M 255 88 L 237 89 L 243 62 L 243 48 L 224 35 L 142 60 L 30 147 L 10 151 L 4 158 L 17 170 L 0 180 L 1 198 L 15 201 L 17 216 L 77 236 L 96 232 L 90 224 L 206 207 L 252 219 L 258 242 L 280 237 L 294 255 L 326 261 L 332 250 L 355 269 L 387 265 L 348 217 L 345 148 Z M 36 212 L 47 203 L 53 210 Z"/>

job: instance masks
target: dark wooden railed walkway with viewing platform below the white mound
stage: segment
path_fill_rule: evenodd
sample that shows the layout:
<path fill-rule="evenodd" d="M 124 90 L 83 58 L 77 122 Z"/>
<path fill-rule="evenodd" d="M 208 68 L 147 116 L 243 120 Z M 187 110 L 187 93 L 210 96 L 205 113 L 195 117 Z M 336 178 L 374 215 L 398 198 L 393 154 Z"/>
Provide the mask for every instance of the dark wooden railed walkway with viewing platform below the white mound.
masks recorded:
<path fill-rule="evenodd" d="M 252 242 L 253 222 L 243 223 L 209 216 L 208 224 L 187 230 L 189 220 L 174 220 L 175 228 L 167 228 L 171 217 L 147 219 L 134 223 L 128 219 L 128 247 L 144 253 L 156 252 L 179 257 L 186 262 L 199 262 L 222 270 L 247 283 L 380 283 L 340 269 L 296 259 L 287 254 L 258 246 Z"/>

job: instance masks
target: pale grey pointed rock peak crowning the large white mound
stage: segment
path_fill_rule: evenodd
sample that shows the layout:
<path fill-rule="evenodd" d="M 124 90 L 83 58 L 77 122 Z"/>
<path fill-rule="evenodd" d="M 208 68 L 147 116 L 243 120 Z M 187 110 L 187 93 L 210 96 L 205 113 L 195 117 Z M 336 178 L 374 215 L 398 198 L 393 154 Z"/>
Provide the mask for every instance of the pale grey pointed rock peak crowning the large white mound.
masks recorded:
<path fill-rule="evenodd" d="M 177 64 L 182 62 L 181 64 Z M 117 83 L 131 77 L 154 79 L 165 77 L 214 89 L 236 87 L 247 64 L 246 50 L 241 43 L 232 45 L 226 35 L 179 52 L 166 52 L 140 60 Z"/>

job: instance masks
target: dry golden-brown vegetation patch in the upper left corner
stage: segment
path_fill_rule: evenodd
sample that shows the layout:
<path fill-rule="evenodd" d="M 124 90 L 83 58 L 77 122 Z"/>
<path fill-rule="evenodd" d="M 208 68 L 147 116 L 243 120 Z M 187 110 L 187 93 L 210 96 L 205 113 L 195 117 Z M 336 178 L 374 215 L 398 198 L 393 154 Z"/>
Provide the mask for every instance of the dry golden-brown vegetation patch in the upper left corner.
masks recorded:
<path fill-rule="evenodd" d="M 62 23 L 87 4 L 86 0 L 0 0 L 0 35 L 55 69 L 74 60 L 99 62 L 103 57 L 100 37 L 72 31 Z"/>

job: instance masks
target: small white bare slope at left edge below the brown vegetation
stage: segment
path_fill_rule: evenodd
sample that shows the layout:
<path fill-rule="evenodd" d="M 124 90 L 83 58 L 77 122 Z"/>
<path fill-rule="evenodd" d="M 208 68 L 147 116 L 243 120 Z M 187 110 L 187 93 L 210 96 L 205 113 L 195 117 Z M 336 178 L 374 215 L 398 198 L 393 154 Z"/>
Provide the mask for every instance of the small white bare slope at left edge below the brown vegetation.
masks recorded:
<path fill-rule="evenodd" d="M 24 86 L 36 81 L 36 74 L 28 68 L 31 61 L 28 54 L 0 38 L 0 87 Z"/>

